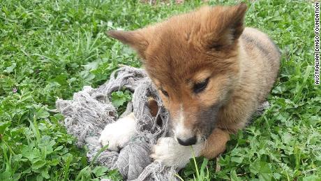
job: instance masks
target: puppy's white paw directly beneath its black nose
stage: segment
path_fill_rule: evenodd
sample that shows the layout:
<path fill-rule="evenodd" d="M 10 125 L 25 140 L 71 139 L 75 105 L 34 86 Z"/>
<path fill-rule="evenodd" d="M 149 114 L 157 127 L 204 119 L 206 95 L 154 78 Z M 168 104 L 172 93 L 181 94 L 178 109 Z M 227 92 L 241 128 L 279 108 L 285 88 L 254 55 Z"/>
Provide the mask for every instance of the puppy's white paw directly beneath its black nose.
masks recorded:
<path fill-rule="evenodd" d="M 193 145 L 195 157 L 200 156 L 202 144 Z M 152 148 L 151 158 L 165 166 L 177 166 L 184 168 L 193 157 L 191 146 L 179 145 L 174 138 L 159 138 L 157 145 Z"/>

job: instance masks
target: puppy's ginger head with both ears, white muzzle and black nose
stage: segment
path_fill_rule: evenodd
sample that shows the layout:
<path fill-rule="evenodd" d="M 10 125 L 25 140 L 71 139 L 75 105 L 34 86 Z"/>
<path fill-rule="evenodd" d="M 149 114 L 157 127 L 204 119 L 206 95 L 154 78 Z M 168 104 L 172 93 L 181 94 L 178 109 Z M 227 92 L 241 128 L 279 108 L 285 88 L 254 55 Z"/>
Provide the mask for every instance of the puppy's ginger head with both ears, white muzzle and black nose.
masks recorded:
<path fill-rule="evenodd" d="M 203 7 L 135 31 L 109 31 L 142 57 L 172 117 L 174 137 L 193 145 L 214 129 L 239 74 L 246 4 Z"/>

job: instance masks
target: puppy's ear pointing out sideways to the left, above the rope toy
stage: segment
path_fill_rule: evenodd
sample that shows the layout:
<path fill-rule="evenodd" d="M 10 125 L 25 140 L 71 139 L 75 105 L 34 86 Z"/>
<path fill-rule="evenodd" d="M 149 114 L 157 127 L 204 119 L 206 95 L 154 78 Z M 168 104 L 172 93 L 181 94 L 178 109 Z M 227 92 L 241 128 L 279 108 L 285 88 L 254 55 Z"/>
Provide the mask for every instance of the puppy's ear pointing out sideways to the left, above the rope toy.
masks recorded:
<path fill-rule="evenodd" d="M 111 30 L 107 31 L 107 34 L 124 44 L 130 45 L 131 48 L 136 50 L 137 53 L 143 59 L 145 59 L 145 50 L 147 49 L 149 43 L 147 38 L 143 35 L 141 29 L 135 31 Z"/>

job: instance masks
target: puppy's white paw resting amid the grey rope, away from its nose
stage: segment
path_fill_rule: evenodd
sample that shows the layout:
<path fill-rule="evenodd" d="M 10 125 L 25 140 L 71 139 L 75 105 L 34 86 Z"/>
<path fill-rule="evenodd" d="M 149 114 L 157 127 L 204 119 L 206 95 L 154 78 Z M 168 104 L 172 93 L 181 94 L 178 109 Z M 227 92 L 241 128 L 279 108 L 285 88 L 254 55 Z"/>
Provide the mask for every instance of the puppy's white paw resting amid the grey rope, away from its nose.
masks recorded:
<path fill-rule="evenodd" d="M 130 141 L 130 138 L 136 135 L 136 124 L 137 121 L 133 113 L 117 120 L 117 122 L 107 124 L 101 132 L 99 142 L 103 146 L 108 145 L 107 150 L 117 152 Z"/>

